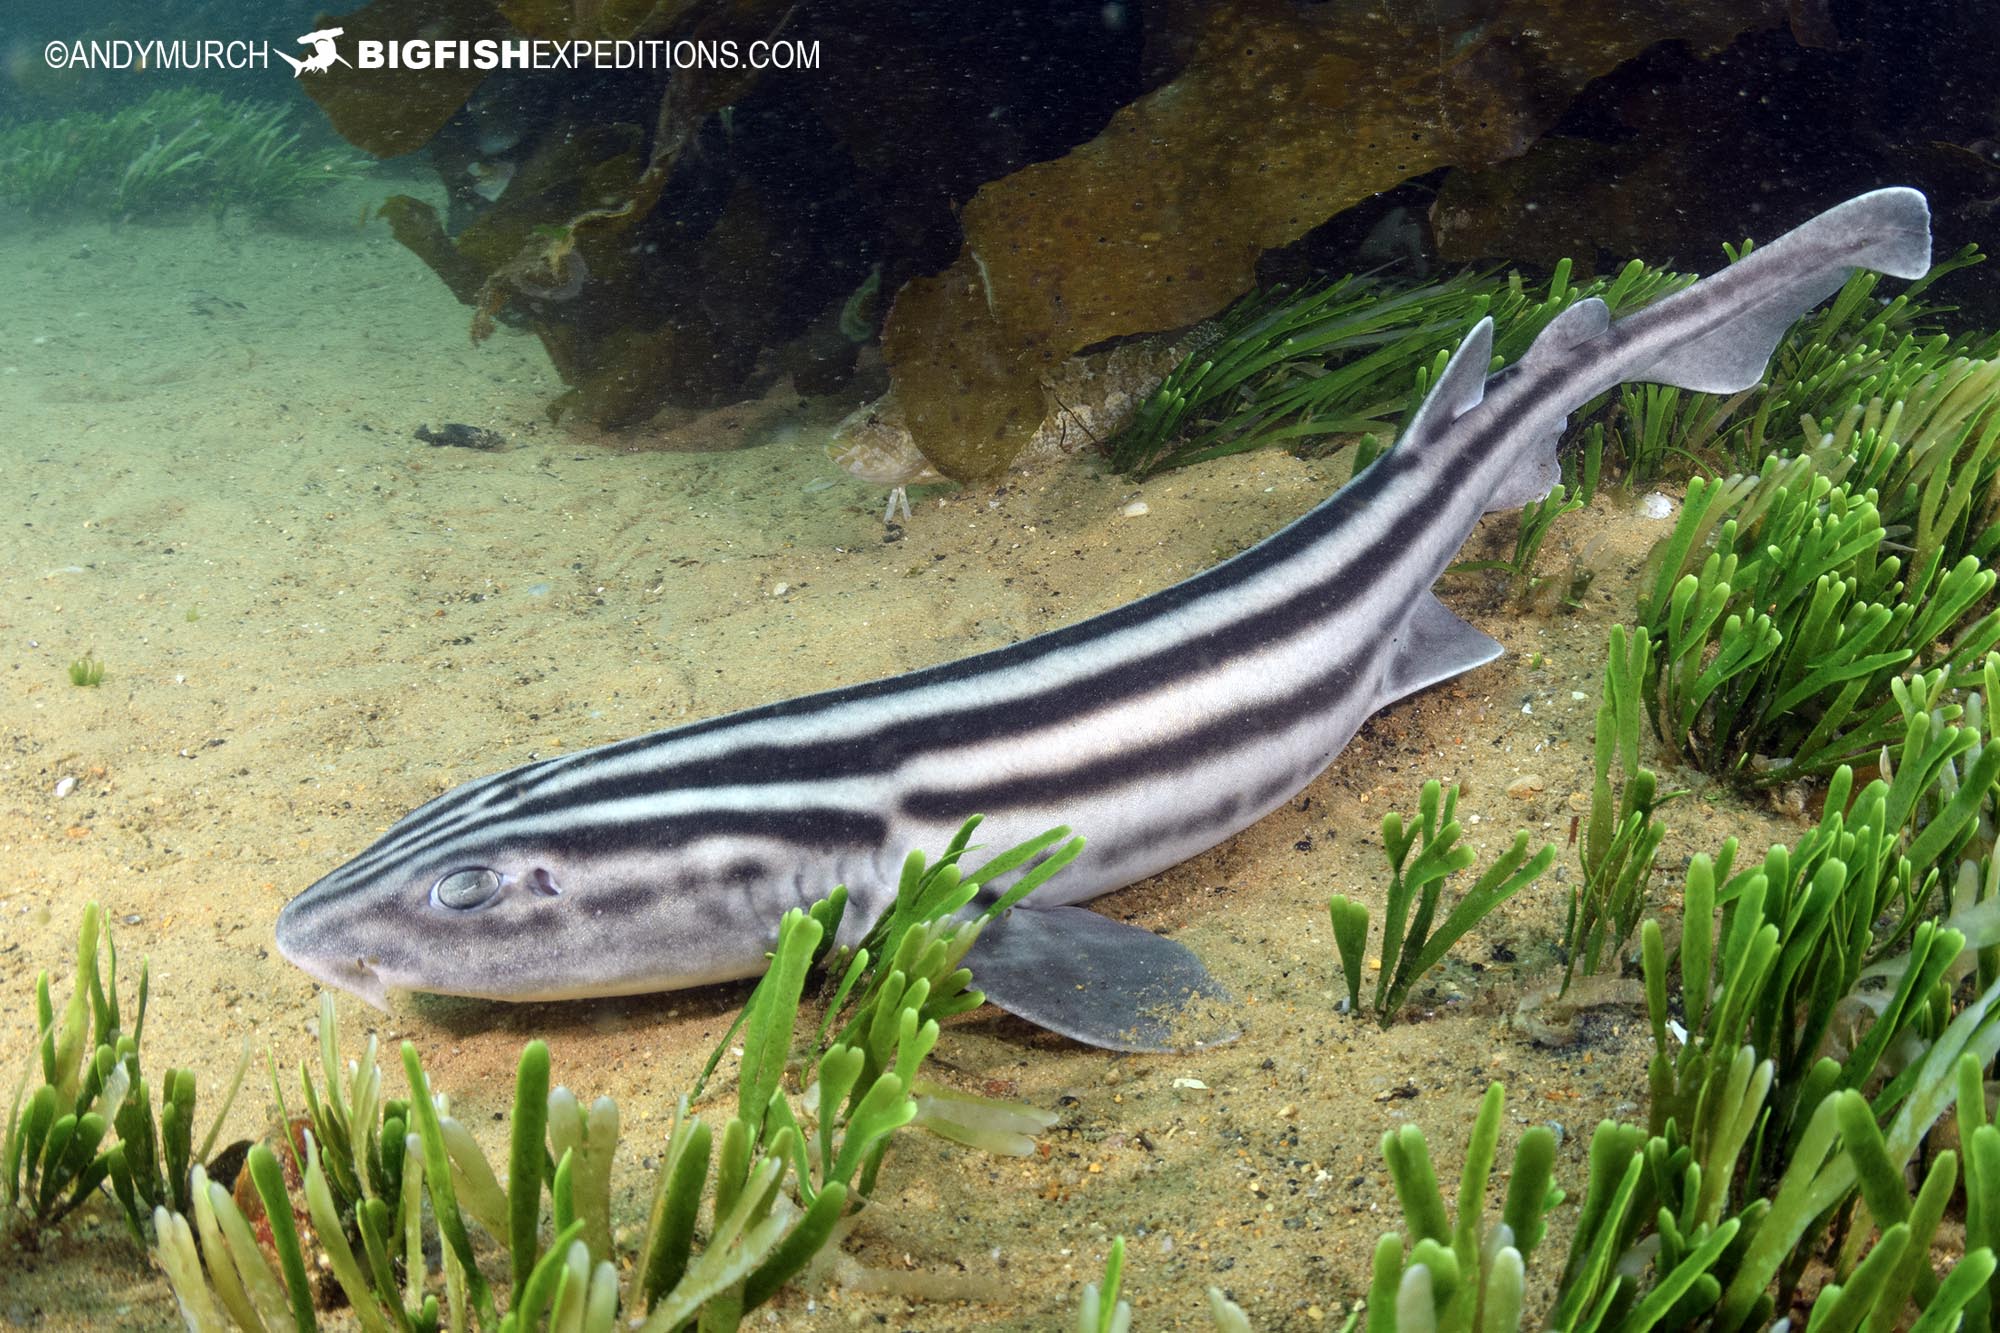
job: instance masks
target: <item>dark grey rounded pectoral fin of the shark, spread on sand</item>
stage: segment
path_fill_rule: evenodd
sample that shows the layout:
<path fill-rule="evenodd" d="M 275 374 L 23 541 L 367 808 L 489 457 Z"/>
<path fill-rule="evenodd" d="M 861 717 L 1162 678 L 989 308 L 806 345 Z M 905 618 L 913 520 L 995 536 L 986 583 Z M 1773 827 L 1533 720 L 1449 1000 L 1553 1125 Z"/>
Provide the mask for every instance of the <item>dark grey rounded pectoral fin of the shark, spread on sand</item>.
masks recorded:
<path fill-rule="evenodd" d="M 1106 1051 L 1192 1051 L 1240 1035 L 1230 993 L 1184 945 L 1082 907 L 1016 907 L 966 955 L 972 985 L 1036 1027 Z"/>

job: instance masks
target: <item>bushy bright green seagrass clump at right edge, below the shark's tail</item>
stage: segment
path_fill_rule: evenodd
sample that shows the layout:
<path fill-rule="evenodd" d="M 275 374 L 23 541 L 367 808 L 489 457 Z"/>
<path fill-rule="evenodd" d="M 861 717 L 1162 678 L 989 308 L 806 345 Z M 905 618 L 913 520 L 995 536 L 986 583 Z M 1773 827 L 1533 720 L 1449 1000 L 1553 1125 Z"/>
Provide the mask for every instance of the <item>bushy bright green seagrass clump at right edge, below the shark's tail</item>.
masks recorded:
<path fill-rule="evenodd" d="M 2000 362 L 1952 360 L 1756 476 L 1688 484 L 1648 558 L 1650 713 L 1670 753 L 1760 787 L 1862 763 L 1892 683 L 2000 644 Z"/>

